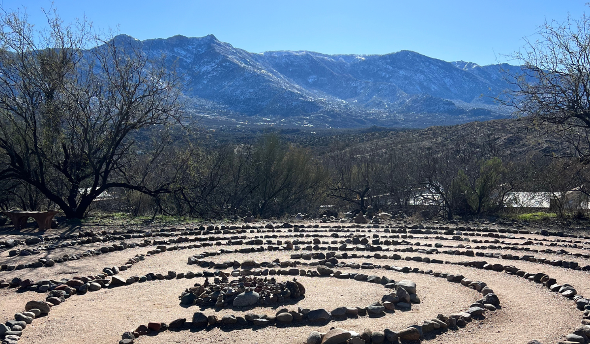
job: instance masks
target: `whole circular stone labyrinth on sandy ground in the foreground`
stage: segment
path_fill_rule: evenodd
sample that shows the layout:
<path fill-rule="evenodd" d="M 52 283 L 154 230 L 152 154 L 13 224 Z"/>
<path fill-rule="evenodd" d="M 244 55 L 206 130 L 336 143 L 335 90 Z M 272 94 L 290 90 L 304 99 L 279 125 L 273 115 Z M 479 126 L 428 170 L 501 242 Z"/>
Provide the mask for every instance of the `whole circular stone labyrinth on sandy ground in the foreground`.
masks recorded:
<path fill-rule="evenodd" d="M 588 343 L 589 241 L 401 221 L 6 236 L 0 338 Z"/>

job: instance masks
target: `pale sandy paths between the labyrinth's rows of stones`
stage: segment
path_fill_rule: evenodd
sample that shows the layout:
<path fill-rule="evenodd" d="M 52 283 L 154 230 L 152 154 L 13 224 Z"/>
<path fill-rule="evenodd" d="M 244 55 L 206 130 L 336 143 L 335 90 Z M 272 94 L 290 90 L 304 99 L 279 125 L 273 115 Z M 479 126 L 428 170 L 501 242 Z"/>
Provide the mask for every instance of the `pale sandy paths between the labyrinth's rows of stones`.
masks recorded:
<path fill-rule="evenodd" d="M 55 234 L 58 234 L 57 230 Z M 35 234 L 33 232 L 33 234 Z M 287 233 L 281 233 L 287 234 Z M 325 234 L 325 233 L 324 233 Z M 369 235 L 371 240 L 372 234 Z M 386 233 L 379 233 L 389 235 Z M 25 235 L 32 235 L 25 233 Z M 36 234 L 35 234 L 36 235 Z M 255 235 L 248 233 L 248 238 Z M 539 235 L 515 235 L 517 238 L 525 237 L 542 239 Z M 19 234 L 0 234 L 0 240 L 6 238 L 18 238 Z M 432 235 L 431 237 L 434 237 Z M 445 236 L 450 237 L 450 236 Z M 22 236 L 20 238 L 23 238 Z M 478 240 L 493 240 L 487 237 L 470 237 Z M 165 239 L 165 238 L 157 238 Z M 549 237 L 549 240 L 558 238 Z M 571 238 L 565 238 L 570 240 Z M 273 239 L 276 241 L 277 239 Z M 281 240 L 279 238 L 279 240 Z M 288 239 L 282 239 L 288 240 Z M 306 240 L 311 240 L 306 238 Z M 334 238 L 320 238 L 322 241 L 332 241 Z M 340 238 L 338 239 L 340 240 Z M 401 240 L 401 239 L 400 239 Z M 406 239 L 412 243 L 442 243 L 444 245 L 485 245 L 459 242 L 452 240 L 434 240 L 434 238 L 418 238 L 415 235 L 412 239 Z M 525 240 L 520 239 L 503 239 L 511 243 L 522 243 Z M 500 241 L 503 241 L 500 240 Z M 143 240 L 125 240 L 127 243 L 139 243 Z M 588 240 L 581 240 L 585 243 Z M 102 247 L 112 243 L 96 243 L 81 245 L 67 248 L 59 248 L 52 251 L 43 251 L 40 255 L 31 257 L 10 257 L 8 251 L 0 251 L 0 261 L 28 261 L 36 260 L 38 257 L 47 254 L 51 257 L 61 256 L 64 254 L 76 253 L 88 250 L 91 247 Z M 543 242 L 548 244 L 548 242 Z M 562 243 L 558 243 L 562 244 Z M 27 246 L 19 246 L 24 248 Z M 392 246 L 392 248 L 403 248 L 404 246 Z M 549 247 L 541 245 L 529 245 L 530 248 L 541 250 L 551 248 L 559 250 L 562 247 Z M 227 246 L 217 248 L 228 248 Z M 231 248 L 240 248 L 232 246 Z M 414 246 L 414 249 L 417 247 Z M 565 247 L 564 247 L 565 248 Z M 106 266 L 120 266 L 130 257 L 136 254 L 145 254 L 153 247 L 136 247 L 123 251 L 87 257 L 81 260 L 68 261 L 67 263 L 55 264 L 51 268 L 29 268 L 18 271 L 0 272 L 0 280 L 9 280 L 13 277 L 40 279 L 61 279 L 63 277 L 72 278 L 74 276 L 87 276 L 89 274 L 99 273 Z M 215 248 L 195 248 L 187 250 L 169 251 L 158 254 L 153 257 L 147 257 L 145 261 L 135 264 L 130 270 L 121 271 L 120 276 L 142 276 L 143 274 L 163 273 L 168 270 L 174 270 L 177 273 L 186 271 L 202 271 L 204 269 L 197 266 L 188 266 L 187 258 L 190 255 L 201 253 L 202 251 L 212 251 Z M 438 250 L 445 250 L 439 248 Z M 464 249 L 461 249 L 464 250 Z M 571 253 L 588 254 L 588 250 L 565 248 Z M 477 250 L 476 250 L 477 251 Z M 525 251 L 512 250 L 481 250 L 491 253 L 511 253 L 517 255 L 528 254 Z M 210 257 L 208 260 L 221 263 L 226 260 L 243 261 L 245 259 L 254 259 L 257 261 L 271 261 L 276 258 L 280 260 L 290 260 L 290 254 L 293 251 L 283 252 L 263 252 L 252 254 L 224 254 L 217 257 Z M 368 254 L 368 253 L 359 253 Z M 415 255 L 427 256 L 419 253 L 399 253 L 402 257 L 406 255 L 412 257 Z M 530 253 L 535 257 L 547 259 L 564 259 L 569 261 L 578 261 L 580 264 L 590 264 L 590 260 L 582 257 L 573 257 L 573 255 L 556 255 L 545 253 Z M 526 261 L 508 261 L 497 258 L 487 257 L 464 257 L 461 255 L 435 254 L 428 255 L 430 258 L 438 258 L 445 261 L 465 261 L 465 260 L 486 260 L 488 263 L 500 263 L 504 265 L 512 264 L 522 270 L 529 272 L 545 272 L 551 277 L 555 277 L 559 283 L 571 283 L 579 294 L 590 296 L 590 272 L 575 271 L 561 267 L 552 267 L 545 264 L 535 264 Z M 537 339 L 542 343 L 555 343 L 563 340 L 567 333 L 570 333 L 580 323 L 582 312 L 575 308 L 575 304 L 560 296 L 550 292 L 548 289 L 539 284 L 526 281 L 520 277 L 511 276 L 506 273 L 494 271 L 479 270 L 470 267 L 456 266 L 451 264 L 426 264 L 415 261 L 394 261 L 394 260 L 375 260 L 373 258 L 355 258 L 343 260 L 345 263 L 356 262 L 363 263 L 366 261 L 374 264 L 389 264 L 395 266 L 418 267 L 424 270 L 432 269 L 446 273 L 463 274 L 471 280 L 485 281 L 500 297 L 502 308 L 496 312 L 488 312 L 486 319 L 474 321 L 465 328 L 442 333 L 434 339 L 428 339 L 430 343 L 526 343 L 528 340 Z M 6 263 L 4 263 L 6 264 Z M 309 269 L 311 267 L 300 267 Z M 228 270 L 229 271 L 229 270 Z M 387 276 L 394 280 L 409 279 L 415 281 L 418 285 L 418 296 L 422 303 L 414 305 L 411 311 L 396 311 L 394 314 L 386 314 L 383 317 L 370 318 L 367 316 L 358 319 L 346 319 L 332 321 L 321 326 L 309 326 L 309 323 L 294 324 L 294 326 L 269 326 L 264 328 L 242 328 L 228 331 L 224 327 L 215 327 L 209 330 L 192 332 L 191 330 L 182 330 L 180 332 L 167 331 L 157 336 L 142 336 L 136 340 L 136 343 L 303 343 L 312 329 L 326 332 L 330 327 L 342 327 L 347 330 L 362 332 L 365 327 L 373 330 L 383 330 L 388 327 L 394 330 L 403 329 L 415 323 L 421 323 L 422 320 L 432 319 L 437 314 L 450 314 L 460 312 L 480 298 L 480 294 L 470 290 L 460 284 L 449 283 L 445 279 L 423 275 L 423 274 L 403 274 L 377 270 L 348 270 L 342 271 L 362 272 L 366 274 L 377 274 Z M 277 276 L 277 279 L 286 280 L 290 277 Z M 292 277 L 291 277 L 292 278 Z M 54 307 L 48 316 L 34 320 L 27 326 L 23 337 L 19 343 L 23 344 L 41 344 L 41 343 L 117 343 L 123 332 L 133 330 L 138 325 L 146 324 L 149 321 L 171 322 L 179 317 L 185 317 L 190 321 L 192 314 L 198 312 L 196 306 L 182 307 L 179 305 L 178 296 L 187 287 L 194 283 L 201 283 L 204 279 L 181 279 L 181 280 L 163 280 L 149 281 L 146 283 L 136 283 L 131 286 L 117 287 L 114 289 L 100 290 L 94 293 L 87 293 L 84 296 L 74 296 L 67 302 Z M 368 306 L 369 304 L 380 300 L 381 296 L 388 292 L 381 285 L 358 282 L 354 280 L 338 280 L 332 278 L 309 278 L 297 277 L 297 280 L 306 286 L 306 297 L 299 300 L 296 304 L 287 304 L 285 307 L 296 309 L 307 307 L 310 309 L 325 308 L 332 310 L 339 306 Z M 0 290 L 0 319 L 12 319 L 14 313 L 21 312 L 24 304 L 28 300 L 44 299 L 45 294 L 32 292 L 16 293 L 14 289 Z M 205 314 L 216 314 L 219 318 L 225 314 L 244 315 L 248 312 L 274 314 L 277 307 L 257 307 L 253 310 L 233 310 L 233 309 L 205 309 Z"/>

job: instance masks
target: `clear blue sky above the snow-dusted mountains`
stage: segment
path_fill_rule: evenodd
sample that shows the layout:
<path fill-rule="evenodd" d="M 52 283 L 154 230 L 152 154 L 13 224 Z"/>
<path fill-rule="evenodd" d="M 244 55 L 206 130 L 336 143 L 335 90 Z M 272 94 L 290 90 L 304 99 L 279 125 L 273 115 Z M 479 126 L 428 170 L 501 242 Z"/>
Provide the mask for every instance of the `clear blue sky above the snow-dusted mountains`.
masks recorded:
<path fill-rule="evenodd" d="M 386 54 L 413 50 L 445 61 L 507 61 L 545 19 L 578 18 L 588 0 L 537 1 L 150 1 L 55 0 L 65 21 L 86 15 L 99 28 L 140 40 L 214 34 L 254 53 L 312 50 Z M 2 0 L 26 6 L 42 25 L 47 0 Z"/>

